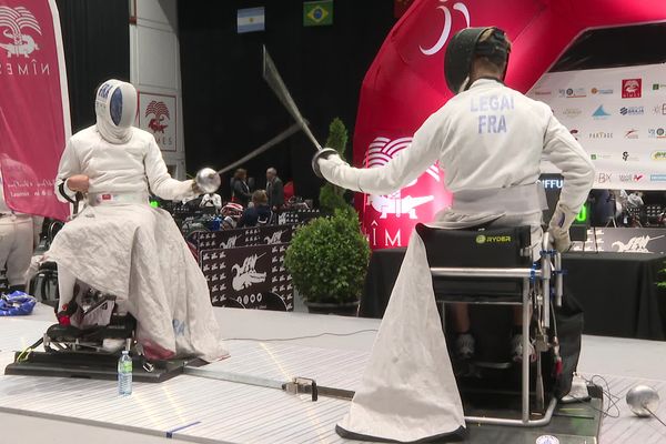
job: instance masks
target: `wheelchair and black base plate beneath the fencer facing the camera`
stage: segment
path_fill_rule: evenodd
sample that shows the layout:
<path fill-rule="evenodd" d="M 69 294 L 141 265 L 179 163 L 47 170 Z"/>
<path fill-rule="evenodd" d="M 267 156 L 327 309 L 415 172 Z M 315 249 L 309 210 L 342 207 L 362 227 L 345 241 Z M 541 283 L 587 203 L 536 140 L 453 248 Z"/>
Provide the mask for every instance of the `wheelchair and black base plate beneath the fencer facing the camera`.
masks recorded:
<path fill-rule="evenodd" d="M 57 222 L 49 229 L 47 244 L 59 228 L 61 223 Z M 114 380 L 123 350 L 132 352 L 133 377 L 140 382 L 167 381 L 181 374 L 189 363 L 147 360 L 135 341 L 135 319 L 118 305 L 114 295 L 81 281 L 74 284 L 72 301 L 58 312 L 58 268 L 53 262 L 41 263 L 29 287 L 38 300 L 54 307 L 58 323 L 34 344 L 17 352 L 6 374 Z M 34 351 L 39 345 L 44 352 Z"/>

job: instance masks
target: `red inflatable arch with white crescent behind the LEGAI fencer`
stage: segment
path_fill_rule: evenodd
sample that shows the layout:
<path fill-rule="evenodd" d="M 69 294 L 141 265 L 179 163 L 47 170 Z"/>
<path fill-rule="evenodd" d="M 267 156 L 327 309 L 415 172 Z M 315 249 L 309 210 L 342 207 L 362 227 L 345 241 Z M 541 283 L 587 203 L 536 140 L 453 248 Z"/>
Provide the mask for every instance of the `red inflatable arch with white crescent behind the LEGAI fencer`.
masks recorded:
<path fill-rule="evenodd" d="M 465 27 L 496 26 L 513 41 L 506 83 L 526 92 L 583 31 L 666 19 L 664 0 L 415 0 L 395 24 L 361 90 L 354 164 L 373 168 L 408 149 L 414 132 L 452 93 L 444 81 L 450 38 Z M 387 196 L 356 195 L 373 249 L 404 246 L 416 222 L 450 203 L 444 174 L 427 170 Z"/>

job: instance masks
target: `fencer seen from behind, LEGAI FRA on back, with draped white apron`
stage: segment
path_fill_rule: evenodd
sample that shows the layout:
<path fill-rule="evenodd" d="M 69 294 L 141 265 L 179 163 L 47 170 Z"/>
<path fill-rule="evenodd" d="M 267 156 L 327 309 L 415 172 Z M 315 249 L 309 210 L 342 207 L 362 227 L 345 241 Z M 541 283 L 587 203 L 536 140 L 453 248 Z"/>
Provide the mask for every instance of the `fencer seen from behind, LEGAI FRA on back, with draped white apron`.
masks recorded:
<path fill-rule="evenodd" d="M 367 194 L 390 194 L 438 162 L 453 193 L 451 208 L 428 226 L 528 225 L 533 258 L 542 251 L 537 184 L 542 158 L 562 170 L 564 188 L 548 234 L 569 248 L 568 228 L 592 188 L 594 169 L 548 105 L 503 83 L 511 43 L 496 28 L 456 33 L 445 77 L 456 93 L 416 131 L 411 147 L 381 168 L 356 169 L 323 150 L 313 168 L 327 181 Z M 462 402 L 436 309 L 423 240 L 410 239 L 361 389 L 337 424 L 346 437 L 412 442 L 461 433 Z"/>

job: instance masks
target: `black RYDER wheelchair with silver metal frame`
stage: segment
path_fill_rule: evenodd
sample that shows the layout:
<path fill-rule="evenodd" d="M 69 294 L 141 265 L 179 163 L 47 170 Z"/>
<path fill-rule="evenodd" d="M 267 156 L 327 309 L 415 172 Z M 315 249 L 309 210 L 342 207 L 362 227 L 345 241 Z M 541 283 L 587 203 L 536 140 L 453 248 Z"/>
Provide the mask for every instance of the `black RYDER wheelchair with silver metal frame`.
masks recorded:
<path fill-rule="evenodd" d="M 577 313 L 568 325 L 566 353 L 561 351 L 555 307 L 563 303 L 562 258 L 548 245 L 548 234 L 544 234 L 541 260 L 533 263 L 529 226 L 442 230 L 418 224 L 416 232 L 425 244 L 445 330 L 444 307 L 448 303 L 468 303 L 473 304 L 472 307 L 486 304 L 522 306 L 523 359 L 519 372 L 508 363 L 480 361 L 474 364 L 485 372 L 475 373 L 472 379 L 458 376 L 466 414 L 482 412 L 466 416 L 467 422 L 514 426 L 548 424 L 557 400 L 571 387 L 582 334 L 582 313 Z M 484 327 L 490 327 L 488 323 Z M 507 334 L 506 343 L 508 337 Z M 534 363 L 529 360 L 531 337 L 536 351 Z M 544 362 L 546 355 L 551 360 Z M 456 362 L 452 361 L 455 367 Z M 513 372 L 515 377 L 507 376 L 507 371 Z M 494 375 L 495 380 L 491 379 L 484 385 L 482 380 L 487 374 Z M 501 386 L 498 390 L 497 381 L 508 382 L 508 389 Z M 519 418 L 507 417 L 506 412 L 497 414 L 498 408 L 474 405 L 480 398 L 492 397 L 493 393 L 512 391 L 515 410 L 521 412 Z M 500 404 L 506 405 L 506 402 Z M 538 418 L 534 418 L 535 415 Z"/>

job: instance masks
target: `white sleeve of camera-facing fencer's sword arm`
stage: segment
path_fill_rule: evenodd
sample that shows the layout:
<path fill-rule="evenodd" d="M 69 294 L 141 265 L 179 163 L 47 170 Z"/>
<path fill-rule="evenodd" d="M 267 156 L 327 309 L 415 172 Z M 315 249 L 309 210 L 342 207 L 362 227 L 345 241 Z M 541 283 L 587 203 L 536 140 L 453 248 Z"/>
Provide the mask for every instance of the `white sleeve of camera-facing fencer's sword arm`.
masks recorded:
<path fill-rule="evenodd" d="M 164 159 L 162 159 L 160 147 L 158 147 L 154 138 L 150 141 L 150 147 L 148 148 L 148 153 L 145 154 L 143 163 L 148 183 L 153 194 L 170 201 L 182 200 L 195 195 L 192 190 L 191 180 L 179 181 L 171 178 L 167 170 Z"/>

